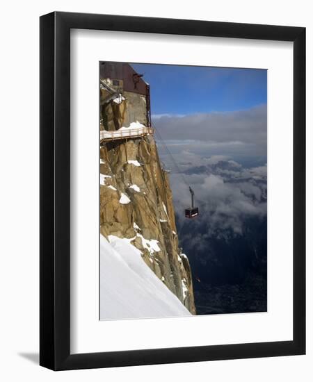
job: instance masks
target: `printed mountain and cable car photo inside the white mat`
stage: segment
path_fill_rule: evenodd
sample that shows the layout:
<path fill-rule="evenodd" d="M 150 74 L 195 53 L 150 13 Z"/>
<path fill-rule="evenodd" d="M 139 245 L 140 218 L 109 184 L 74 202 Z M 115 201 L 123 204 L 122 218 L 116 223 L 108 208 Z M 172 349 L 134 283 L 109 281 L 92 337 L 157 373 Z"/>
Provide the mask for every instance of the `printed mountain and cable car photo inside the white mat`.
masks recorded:
<path fill-rule="evenodd" d="M 99 63 L 99 319 L 267 311 L 267 70 Z"/>

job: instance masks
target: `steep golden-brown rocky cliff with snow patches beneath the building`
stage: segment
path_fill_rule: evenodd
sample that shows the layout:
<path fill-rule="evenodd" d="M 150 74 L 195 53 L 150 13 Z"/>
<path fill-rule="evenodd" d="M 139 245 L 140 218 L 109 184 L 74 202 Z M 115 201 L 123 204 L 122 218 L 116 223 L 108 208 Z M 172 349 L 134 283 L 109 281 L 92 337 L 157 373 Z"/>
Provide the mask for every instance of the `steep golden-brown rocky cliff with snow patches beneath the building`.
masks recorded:
<path fill-rule="evenodd" d="M 124 126 L 125 108 L 126 99 L 102 108 L 110 130 Z M 147 266 L 195 314 L 191 268 L 178 246 L 168 174 L 152 135 L 100 146 L 100 232 L 109 242 L 131 239 Z"/>

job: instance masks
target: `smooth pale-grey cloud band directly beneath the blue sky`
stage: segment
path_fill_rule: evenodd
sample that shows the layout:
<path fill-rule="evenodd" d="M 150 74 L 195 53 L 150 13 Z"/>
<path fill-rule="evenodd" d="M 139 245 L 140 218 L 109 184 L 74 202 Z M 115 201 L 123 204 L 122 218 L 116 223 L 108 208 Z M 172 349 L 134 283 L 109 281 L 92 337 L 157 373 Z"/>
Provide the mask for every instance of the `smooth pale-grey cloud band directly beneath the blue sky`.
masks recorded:
<path fill-rule="evenodd" d="M 231 113 L 201 113 L 154 117 L 160 137 L 172 153 L 266 157 L 267 107 Z"/>

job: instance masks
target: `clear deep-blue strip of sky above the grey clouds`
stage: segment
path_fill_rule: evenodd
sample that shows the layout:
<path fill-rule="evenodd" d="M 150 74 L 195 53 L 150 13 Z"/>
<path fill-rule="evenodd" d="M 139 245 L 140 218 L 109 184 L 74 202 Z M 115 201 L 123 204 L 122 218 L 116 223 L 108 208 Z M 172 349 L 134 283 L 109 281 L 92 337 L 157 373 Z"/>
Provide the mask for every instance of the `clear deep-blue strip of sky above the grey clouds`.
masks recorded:
<path fill-rule="evenodd" d="M 267 102 L 266 69 L 131 66 L 150 83 L 152 115 L 231 112 Z"/>

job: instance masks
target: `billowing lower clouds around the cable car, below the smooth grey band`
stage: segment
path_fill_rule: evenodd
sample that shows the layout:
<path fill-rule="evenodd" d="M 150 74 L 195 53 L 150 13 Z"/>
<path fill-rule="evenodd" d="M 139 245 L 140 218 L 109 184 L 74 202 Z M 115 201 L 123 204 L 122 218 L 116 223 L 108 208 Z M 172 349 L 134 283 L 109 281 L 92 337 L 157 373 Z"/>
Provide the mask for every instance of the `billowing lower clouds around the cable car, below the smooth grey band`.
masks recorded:
<path fill-rule="evenodd" d="M 184 208 L 191 204 L 188 185 L 195 191 L 195 204 L 201 213 L 193 225 L 201 226 L 199 231 L 207 238 L 242 235 L 247 219 L 266 217 L 266 165 L 246 169 L 234 160 L 214 156 L 204 163 L 189 165 L 184 174 L 170 174 L 179 226 L 185 222 Z"/>

